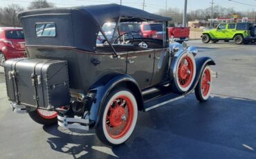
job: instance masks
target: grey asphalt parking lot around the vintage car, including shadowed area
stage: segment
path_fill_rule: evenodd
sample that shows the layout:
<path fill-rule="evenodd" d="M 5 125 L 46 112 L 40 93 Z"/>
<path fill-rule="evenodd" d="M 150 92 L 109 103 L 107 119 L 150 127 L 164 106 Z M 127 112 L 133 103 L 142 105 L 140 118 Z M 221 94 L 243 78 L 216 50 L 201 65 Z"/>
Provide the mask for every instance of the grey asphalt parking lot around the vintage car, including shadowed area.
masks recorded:
<path fill-rule="evenodd" d="M 256 158 L 256 45 L 188 44 L 217 63 L 210 100 L 192 93 L 139 113 L 131 138 L 114 148 L 94 131 L 42 127 L 12 113 L 0 68 L 0 158 Z"/>

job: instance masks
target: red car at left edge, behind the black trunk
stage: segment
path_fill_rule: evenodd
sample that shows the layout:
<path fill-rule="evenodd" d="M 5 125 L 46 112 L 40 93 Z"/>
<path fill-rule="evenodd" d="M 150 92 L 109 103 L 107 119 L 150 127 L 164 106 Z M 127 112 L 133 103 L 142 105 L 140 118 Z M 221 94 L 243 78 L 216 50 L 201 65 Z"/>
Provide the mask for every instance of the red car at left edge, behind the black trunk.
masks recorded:
<path fill-rule="evenodd" d="M 17 57 L 26 57 L 22 28 L 0 28 L 0 66 L 3 66 L 7 59 Z"/>

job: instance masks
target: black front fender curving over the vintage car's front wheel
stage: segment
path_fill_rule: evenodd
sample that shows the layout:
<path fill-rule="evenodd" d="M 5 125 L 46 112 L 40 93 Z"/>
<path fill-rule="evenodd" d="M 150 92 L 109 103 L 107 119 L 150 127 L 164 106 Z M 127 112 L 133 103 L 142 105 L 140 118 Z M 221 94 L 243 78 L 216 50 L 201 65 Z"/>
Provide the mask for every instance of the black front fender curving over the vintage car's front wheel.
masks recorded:
<path fill-rule="evenodd" d="M 186 93 L 184 93 L 185 95 L 190 94 L 194 90 L 194 88 L 196 88 L 196 85 L 199 82 L 201 74 L 203 73 L 203 68 L 206 65 L 216 65 L 213 59 L 210 57 L 199 57 L 195 59 L 195 62 L 196 62 L 196 76 L 194 77 L 194 82 L 191 88 Z"/>

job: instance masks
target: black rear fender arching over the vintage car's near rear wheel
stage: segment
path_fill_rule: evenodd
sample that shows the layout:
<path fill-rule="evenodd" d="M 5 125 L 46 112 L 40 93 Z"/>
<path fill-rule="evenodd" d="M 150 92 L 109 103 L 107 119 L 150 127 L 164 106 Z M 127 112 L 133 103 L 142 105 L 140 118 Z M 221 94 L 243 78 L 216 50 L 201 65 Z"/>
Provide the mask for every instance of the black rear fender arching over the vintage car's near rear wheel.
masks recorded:
<path fill-rule="evenodd" d="M 91 96 L 93 94 L 93 102 L 89 111 L 89 120 L 94 121 L 94 124 L 91 125 L 91 127 L 95 127 L 98 124 L 102 113 L 102 106 L 107 96 L 113 88 L 118 86 L 129 88 L 136 97 L 138 110 L 143 110 L 143 96 L 138 83 L 133 77 L 127 74 L 107 75 L 93 84 L 87 94 L 87 96 Z"/>

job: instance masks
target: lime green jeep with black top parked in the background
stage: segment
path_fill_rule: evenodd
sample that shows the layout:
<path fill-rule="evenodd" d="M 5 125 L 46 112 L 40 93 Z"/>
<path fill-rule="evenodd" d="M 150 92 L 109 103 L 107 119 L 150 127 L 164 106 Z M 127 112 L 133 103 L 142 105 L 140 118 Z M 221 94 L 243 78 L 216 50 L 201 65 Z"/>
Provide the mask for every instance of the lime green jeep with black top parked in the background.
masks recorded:
<path fill-rule="evenodd" d="M 255 43 L 256 27 L 250 23 L 219 24 L 217 28 L 205 30 L 201 36 L 203 43 L 212 40 L 216 43 L 219 40 L 234 40 L 235 44 Z"/>

